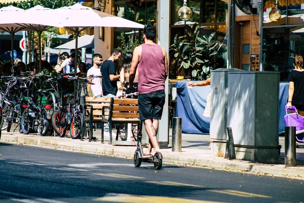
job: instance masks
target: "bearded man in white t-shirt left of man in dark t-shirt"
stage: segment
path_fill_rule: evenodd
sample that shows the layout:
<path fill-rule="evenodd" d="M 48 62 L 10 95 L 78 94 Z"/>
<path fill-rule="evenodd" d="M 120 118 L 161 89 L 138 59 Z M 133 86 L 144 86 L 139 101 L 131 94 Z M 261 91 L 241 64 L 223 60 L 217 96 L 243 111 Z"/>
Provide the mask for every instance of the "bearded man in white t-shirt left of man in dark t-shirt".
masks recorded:
<path fill-rule="evenodd" d="M 93 76 L 101 76 L 100 66 L 102 64 L 102 56 L 100 54 L 93 55 L 93 66 L 89 69 L 87 73 L 87 77 Z M 101 86 L 101 78 L 93 78 L 90 82 L 94 83 L 94 85 L 88 84 L 88 92 L 90 92 L 90 88 L 92 89 L 93 96 L 101 97 L 102 96 L 102 86 Z"/>

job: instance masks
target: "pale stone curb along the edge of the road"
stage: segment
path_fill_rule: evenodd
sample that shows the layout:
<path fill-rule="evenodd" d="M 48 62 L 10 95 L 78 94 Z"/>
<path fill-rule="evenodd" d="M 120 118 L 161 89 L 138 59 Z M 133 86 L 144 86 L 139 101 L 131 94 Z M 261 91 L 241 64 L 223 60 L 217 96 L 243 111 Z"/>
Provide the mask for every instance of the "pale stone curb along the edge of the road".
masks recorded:
<path fill-rule="evenodd" d="M 58 150 L 72 150 L 83 153 L 100 153 L 104 155 L 119 156 L 122 158 L 133 159 L 136 147 L 113 146 L 109 144 L 100 144 L 100 142 L 92 142 L 90 145 L 78 144 L 75 141 L 54 141 L 48 140 L 53 137 L 18 137 L 13 134 L 2 134 L 1 140 L 7 143 L 37 145 L 41 147 L 52 147 Z M 81 142 L 81 141 L 80 141 Z M 86 142 L 86 141 L 85 141 Z M 198 154 L 209 153 L 209 156 L 201 157 Z M 195 165 L 200 167 L 210 167 L 212 169 L 219 169 L 224 171 L 233 171 L 239 173 L 251 172 L 258 175 L 279 176 L 287 178 L 296 178 L 304 180 L 304 166 L 298 165 L 293 167 L 285 167 L 283 163 L 253 163 L 246 160 L 228 160 L 222 157 L 215 157 L 210 155 L 207 150 L 196 150 L 196 154 L 186 154 L 187 152 L 170 152 L 162 151 L 164 161 L 174 164 Z"/>

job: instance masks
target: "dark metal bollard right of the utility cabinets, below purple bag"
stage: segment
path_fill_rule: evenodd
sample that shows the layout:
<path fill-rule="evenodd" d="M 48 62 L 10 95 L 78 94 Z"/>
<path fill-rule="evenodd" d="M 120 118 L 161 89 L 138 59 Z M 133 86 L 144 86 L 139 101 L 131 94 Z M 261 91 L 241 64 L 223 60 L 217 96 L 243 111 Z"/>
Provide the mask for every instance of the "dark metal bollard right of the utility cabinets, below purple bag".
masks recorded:
<path fill-rule="evenodd" d="M 295 166 L 295 127 L 285 127 L 285 166 Z"/>

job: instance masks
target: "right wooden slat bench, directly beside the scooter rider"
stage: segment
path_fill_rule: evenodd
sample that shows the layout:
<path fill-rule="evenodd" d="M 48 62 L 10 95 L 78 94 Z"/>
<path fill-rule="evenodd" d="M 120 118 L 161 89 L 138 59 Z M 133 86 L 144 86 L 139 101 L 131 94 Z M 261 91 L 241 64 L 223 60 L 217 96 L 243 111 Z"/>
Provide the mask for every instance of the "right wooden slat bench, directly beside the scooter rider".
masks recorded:
<path fill-rule="evenodd" d="M 105 112 L 109 111 L 108 117 Z M 102 108 L 101 137 L 103 138 L 104 123 L 109 124 L 110 144 L 112 144 L 112 127 L 117 125 L 116 141 L 118 140 L 120 125 L 132 123 L 139 124 L 138 99 L 111 98 L 109 107 Z"/>

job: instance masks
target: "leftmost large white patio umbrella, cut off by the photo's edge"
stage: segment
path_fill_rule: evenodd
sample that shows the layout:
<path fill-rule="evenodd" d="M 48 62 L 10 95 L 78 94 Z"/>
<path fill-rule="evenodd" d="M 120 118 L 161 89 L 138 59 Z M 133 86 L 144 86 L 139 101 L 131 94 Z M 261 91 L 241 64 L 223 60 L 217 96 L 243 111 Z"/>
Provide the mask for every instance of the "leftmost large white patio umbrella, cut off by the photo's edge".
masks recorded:
<path fill-rule="evenodd" d="M 7 18 L 7 16 L 22 16 L 24 10 L 20 9 L 20 8 L 17 8 L 17 7 L 14 7 L 14 6 L 8 6 L 8 7 L 1 8 L 0 12 L 1 12 L 1 15 L 0 15 L 0 21 L 1 21 L 2 19 Z M 20 31 L 22 29 L 24 29 L 24 27 L 19 26 L 19 25 L 9 25 L 9 24 L 7 24 L 7 26 L 4 26 L 4 27 L 2 27 L 0 25 L 0 30 L 9 32 L 10 35 L 11 35 L 12 66 L 14 66 L 14 54 L 13 54 L 14 53 L 14 36 L 15 36 L 15 33 L 17 31 Z"/>

